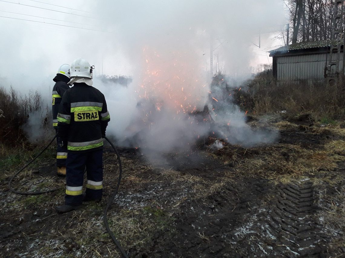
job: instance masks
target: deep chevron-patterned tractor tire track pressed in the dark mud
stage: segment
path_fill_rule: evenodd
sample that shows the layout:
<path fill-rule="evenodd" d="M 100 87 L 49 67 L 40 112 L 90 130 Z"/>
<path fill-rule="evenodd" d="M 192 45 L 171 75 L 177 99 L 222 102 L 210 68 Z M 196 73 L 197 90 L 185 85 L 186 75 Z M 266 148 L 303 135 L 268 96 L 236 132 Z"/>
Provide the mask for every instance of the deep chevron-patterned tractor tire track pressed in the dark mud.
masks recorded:
<path fill-rule="evenodd" d="M 314 189 L 311 182 L 290 184 L 278 190 L 269 225 L 277 232 L 280 253 L 310 257 L 322 252 L 321 230 L 314 222 Z M 326 240 L 326 239 L 324 239 Z M 288 250 L 288 252 L 286 252 Z"/>

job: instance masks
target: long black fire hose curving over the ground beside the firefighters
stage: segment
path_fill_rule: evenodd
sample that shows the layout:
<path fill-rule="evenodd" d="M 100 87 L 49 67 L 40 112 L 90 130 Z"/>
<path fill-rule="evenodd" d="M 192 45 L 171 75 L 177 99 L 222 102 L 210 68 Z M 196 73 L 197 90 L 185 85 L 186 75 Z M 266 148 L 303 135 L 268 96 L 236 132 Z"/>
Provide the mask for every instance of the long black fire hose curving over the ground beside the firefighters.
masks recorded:
<path fill-rule="evenodd" d="M 48 149 L 48 147 L 50 146 L 50 144 L 55 140 L 55 138 L 57 137 L 57 134 L 54 136 L 54 138 L 47 144 L 47 146 L 40 151 L 40 153 L 38 153 L 31 161 L 29 161 L 26 165 L 24 165 L 20 170 L 18 170 L 9 180 L 8 182 L 8 188 L 11 192 L 16 193 L 16 194 L 21 194 L 21 195 L 37 195 L 37 194 L 44 194 L 44 193 L 51 193 L 51 192 L 55 192 L 57 190 L 59 190 L 59 188 L 55 188 L 55 189 L 50 189 L 50 190 L 46 190 L 46 191 L 36 191 L 36 192 L 21 192 L 21 191 L 17 191 L 14 190 L 13 187 L 11 186 L 11 183 L 13 181 L 13 179 L 21 172 L 23 171 L 25 168 L 27 168 L 28 165 L 30 165 L 34 160 L 36 160 L 46 149 Z M 103 214 L 103 221 L 104 221 L 104 225 L 111 237 L 111 239 L 114 241 L 114 243 L 116 244 L 116 246 L 119 248 L 121 254 L 125 257 L 128 258 L 128 255 L 126 254 L 126 252 L 122 249 L 120 243 L 116 240 L 114 234 L 112 233 L 111 229 L 109 228 L 108 225 L 108 218 L 107 218 L 107 213 L 108 213 L 108 209 L 110 208 L 110 205 L 112 203 L 112 201 L 114 201 L 115 196 L 117 194 L 117 191 L 119 190 L 119 186 L 121 183 L 121 176 L 122 176 L 122 164 L 121 164 L 121 159 L 120 159 L 120 154 L 117 151 L 117 149 L 115 148 L 114 144 L 112 144 L 112 142 L 107 138 L 104 137 L 104 139 L 106 139 L 109 144 L 111 145 L 111 147 L 114 149 L 116 155 L 117 155 L 117 160 L 119 162 L 119 178 L 117 181 L 117 185 L 116 185 L 116 189 L 114 191 L 114 193 L 112 194 L 112 196 L 109 198 L 108 202 L 107 202 L 107 206 L 104 210 L 104 214 Z"/>

